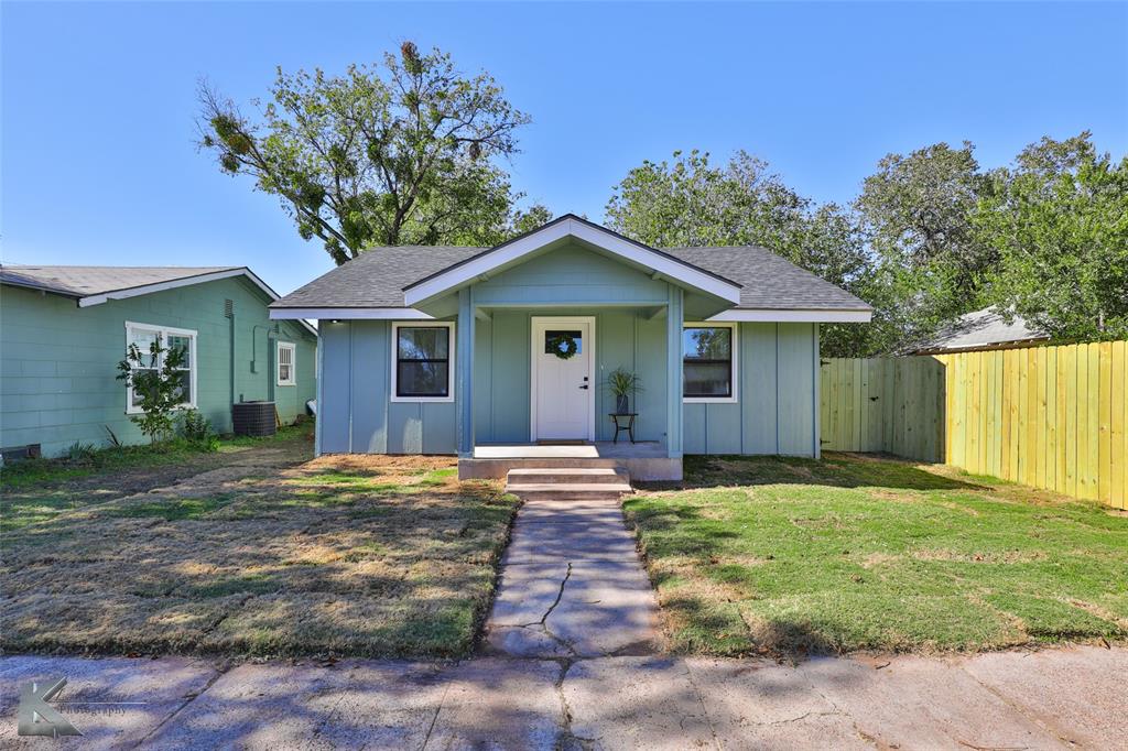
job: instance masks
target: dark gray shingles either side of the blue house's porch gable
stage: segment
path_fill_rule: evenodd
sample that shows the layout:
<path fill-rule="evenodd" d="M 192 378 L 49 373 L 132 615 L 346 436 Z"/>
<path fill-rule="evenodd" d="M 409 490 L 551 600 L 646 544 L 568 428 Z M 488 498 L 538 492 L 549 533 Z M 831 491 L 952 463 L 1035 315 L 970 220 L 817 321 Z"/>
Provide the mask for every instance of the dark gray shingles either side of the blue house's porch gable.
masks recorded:
<path fill-rule="evenodd" d="M 485 248 L 400 246 L 373 248 L 285 295 L 273 308 L 402 308 L 404 288 Z M 869 310 L 862 300 L 757 247 L 662 248 L 743 289 L 740 308 Z"/>

